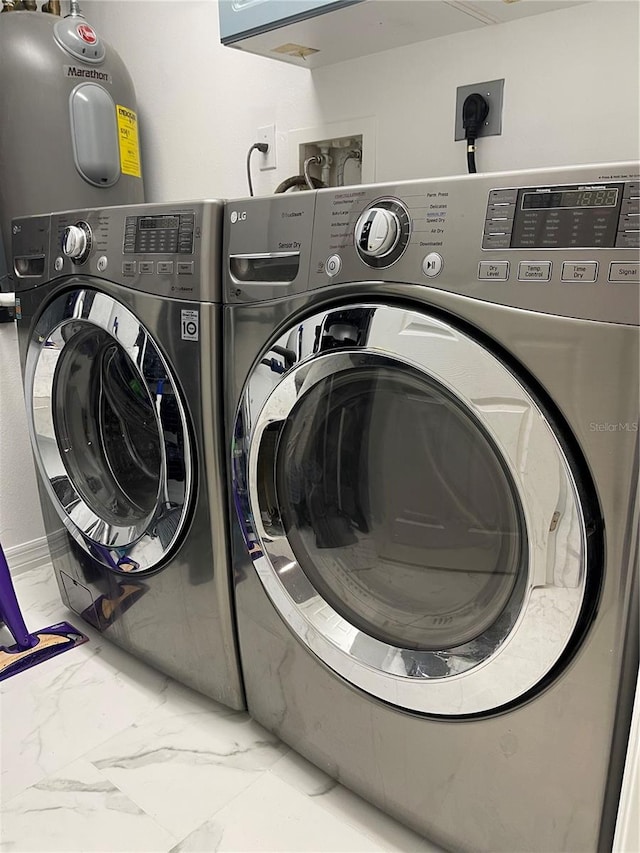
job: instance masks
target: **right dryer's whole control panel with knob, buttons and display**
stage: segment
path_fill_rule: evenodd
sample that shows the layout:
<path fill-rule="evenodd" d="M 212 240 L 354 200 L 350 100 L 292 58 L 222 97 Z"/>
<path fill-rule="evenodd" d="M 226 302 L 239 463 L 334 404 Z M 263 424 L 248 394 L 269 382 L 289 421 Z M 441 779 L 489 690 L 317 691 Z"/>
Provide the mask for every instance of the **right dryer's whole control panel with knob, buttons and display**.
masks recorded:
<path fill-rule="evenodd" d="M 640 323 L 638 163 L 319 190 L 309 288 L 411 283 Z"/>

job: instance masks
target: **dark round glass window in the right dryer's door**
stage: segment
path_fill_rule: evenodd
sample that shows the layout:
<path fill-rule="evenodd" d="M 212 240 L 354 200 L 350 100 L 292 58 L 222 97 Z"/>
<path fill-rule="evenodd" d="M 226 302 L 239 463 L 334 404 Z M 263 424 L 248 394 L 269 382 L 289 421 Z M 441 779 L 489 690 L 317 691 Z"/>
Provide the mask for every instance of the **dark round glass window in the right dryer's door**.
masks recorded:
<path fill-rule="evenodd" d="M 279 436 L 275 485 L 305 575 L 350 624 L 440 651 L 517 612 L 527 540 L 481 424 L 417 371 L 353 367 L 317 382 Z"/>

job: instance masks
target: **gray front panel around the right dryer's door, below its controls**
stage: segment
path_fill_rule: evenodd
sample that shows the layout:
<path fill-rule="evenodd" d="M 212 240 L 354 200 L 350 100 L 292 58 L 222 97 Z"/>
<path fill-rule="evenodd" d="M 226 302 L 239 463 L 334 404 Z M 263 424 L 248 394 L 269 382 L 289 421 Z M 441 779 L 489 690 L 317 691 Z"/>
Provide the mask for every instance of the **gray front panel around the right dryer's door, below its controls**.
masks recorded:
<path fill-rule="evenodd" d="M 232 332 L 235 341 L 226 367 L 228 411 L 235 411 L 256 349 L 268 347 L 274 327 L 294 325 L 327 298 L 344 304 L 364 292 L 433 306 L 471 323 L 526 364 L 559 405 L 589 460 L 607 531 L 598 616 L 570 667 L 527 704 L 480 720 L 425 719 L 355 690 L 294 638 L 236 526 L 235 592 L 249 709 L 326 772 L 446 849 L 610 849 L 638 657 L 631 553 L 638 329 L 533 315 L 426 287 L 338 285 L 315 293 L 311 303 L 308 296 L 272 303 L 268 314 L 251 306 L 225 309 L 225 334 Z M 620 365 L 628 381 L 611 382 Z"/>

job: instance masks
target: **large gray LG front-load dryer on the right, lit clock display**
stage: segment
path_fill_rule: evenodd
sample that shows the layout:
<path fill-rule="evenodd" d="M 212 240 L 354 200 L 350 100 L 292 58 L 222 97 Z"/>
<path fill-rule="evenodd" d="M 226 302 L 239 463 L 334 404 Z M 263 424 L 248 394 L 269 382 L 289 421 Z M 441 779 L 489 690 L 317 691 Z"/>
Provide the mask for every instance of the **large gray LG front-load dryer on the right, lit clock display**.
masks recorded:
<path fill-rule="evenodd" d="M 251 714 L 459 851 L 610 849 L 638 666 L 638 166 L 229 204 Z"/>

